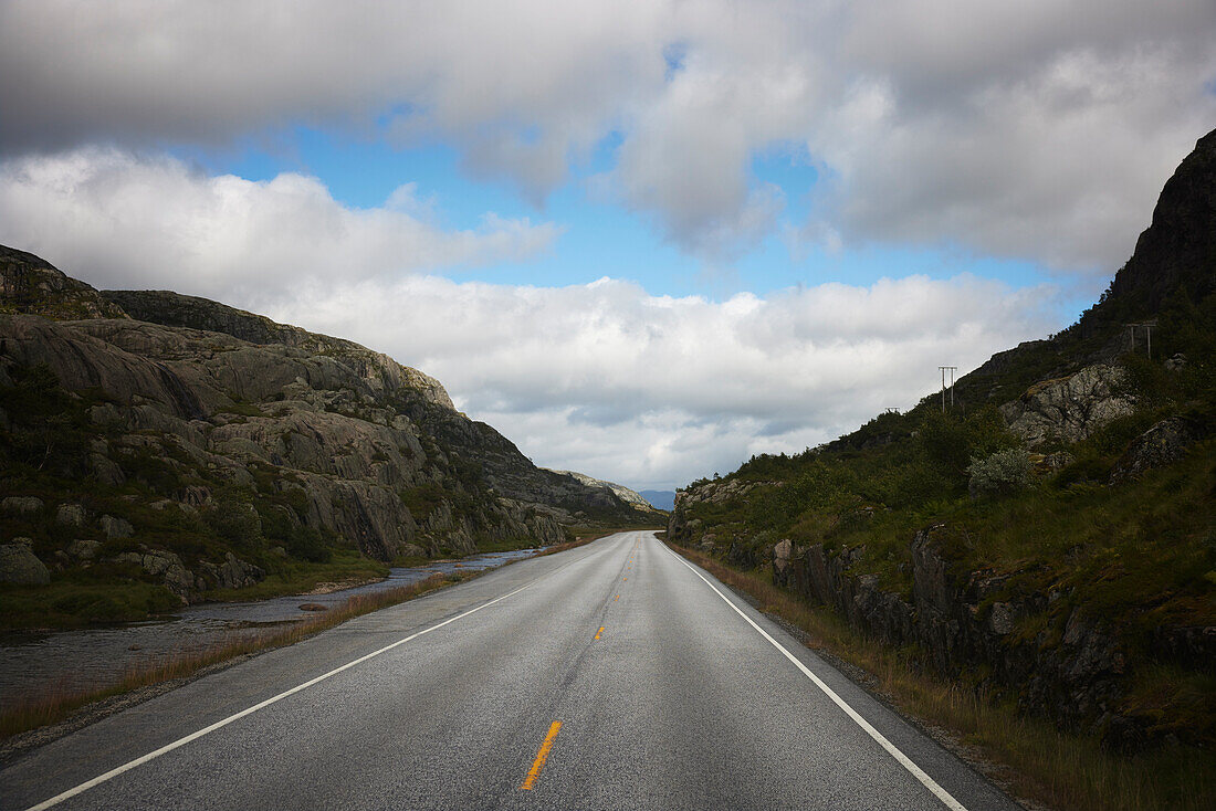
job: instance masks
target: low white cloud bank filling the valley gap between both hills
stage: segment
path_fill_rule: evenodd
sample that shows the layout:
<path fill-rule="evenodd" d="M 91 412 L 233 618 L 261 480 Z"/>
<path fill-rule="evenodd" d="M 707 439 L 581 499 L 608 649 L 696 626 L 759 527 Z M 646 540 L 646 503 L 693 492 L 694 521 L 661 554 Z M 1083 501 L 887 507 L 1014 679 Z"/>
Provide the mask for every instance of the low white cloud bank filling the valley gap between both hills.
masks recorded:
<path fill-rule="evenodd" d="M 539 464 L 635 486 L 800 451 L 1041 337 L 1048 289 L 959 276 L 725 302 L 603 278 L 559 288 L 379 280 L 285 295 L 274 317 L 437 376 Z"/>

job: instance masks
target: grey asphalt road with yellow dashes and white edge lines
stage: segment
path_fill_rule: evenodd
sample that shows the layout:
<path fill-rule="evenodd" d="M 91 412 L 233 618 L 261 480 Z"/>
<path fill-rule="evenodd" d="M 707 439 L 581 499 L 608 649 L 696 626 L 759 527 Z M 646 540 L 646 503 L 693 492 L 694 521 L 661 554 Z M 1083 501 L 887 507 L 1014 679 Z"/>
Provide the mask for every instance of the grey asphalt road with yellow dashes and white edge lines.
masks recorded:
<path fill-rule="evenodd" d="M 35 806 L 1018 807 L 649 533 L 109 716 L 0 771 Z"/>

